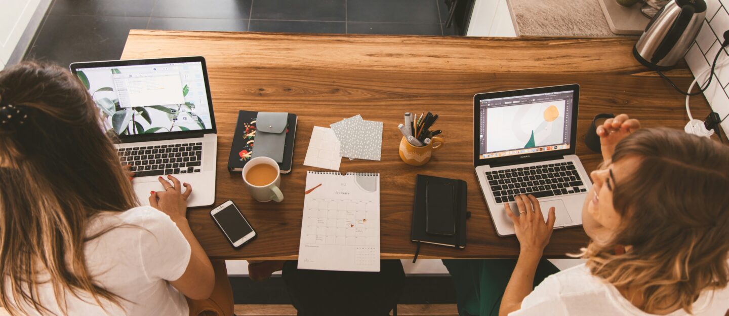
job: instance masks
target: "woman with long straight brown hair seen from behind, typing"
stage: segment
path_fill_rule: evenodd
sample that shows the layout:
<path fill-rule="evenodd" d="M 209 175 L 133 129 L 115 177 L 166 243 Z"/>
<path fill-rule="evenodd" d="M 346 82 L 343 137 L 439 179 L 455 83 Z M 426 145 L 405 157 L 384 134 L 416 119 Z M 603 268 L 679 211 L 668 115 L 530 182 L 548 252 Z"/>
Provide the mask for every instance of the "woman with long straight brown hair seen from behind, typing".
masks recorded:
<path fill-rule="evenodd" d="M 225 265 L 214 269 L 185 218 L 192 187 L 160 177 L 165 190 L 139 207 L 112 137 L 68 70 L 0 72 L 1 304 L 12 315 L 232 315 Z"/>

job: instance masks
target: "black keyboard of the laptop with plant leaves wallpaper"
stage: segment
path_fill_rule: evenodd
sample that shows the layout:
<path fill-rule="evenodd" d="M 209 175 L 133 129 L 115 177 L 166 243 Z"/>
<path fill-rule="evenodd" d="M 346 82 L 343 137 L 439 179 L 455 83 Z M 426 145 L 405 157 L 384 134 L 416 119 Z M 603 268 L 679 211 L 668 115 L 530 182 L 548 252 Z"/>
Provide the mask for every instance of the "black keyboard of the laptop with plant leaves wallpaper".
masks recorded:
<path fill-rule="evenodd" d="M 119 159 L 130 165 L 134 177 L 200 172 L 203 143 L 163 144 L 120 148 Z"/>

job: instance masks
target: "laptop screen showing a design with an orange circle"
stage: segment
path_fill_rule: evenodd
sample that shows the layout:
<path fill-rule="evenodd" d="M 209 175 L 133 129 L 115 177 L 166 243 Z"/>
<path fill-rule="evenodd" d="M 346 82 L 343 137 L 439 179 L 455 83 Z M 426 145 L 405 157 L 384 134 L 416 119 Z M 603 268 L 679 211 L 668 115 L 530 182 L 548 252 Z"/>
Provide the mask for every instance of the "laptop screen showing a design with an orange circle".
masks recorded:
<path fill-rule="evenodd" d="M 574 90 L 480 99 L 478 158 L 567 150 Z"/>

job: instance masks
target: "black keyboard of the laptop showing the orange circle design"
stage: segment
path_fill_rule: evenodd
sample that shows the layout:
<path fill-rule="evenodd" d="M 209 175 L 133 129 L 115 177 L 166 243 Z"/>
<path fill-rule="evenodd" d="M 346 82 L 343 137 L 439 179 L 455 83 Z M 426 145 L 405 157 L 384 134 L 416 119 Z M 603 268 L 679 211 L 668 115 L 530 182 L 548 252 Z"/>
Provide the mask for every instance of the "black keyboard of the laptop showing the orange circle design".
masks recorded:
<path fill-rule="evenodd" d="M 587 191 L 572 161 L 486 172 L 486 180 L 496 203 L 519 194 L 544 198 Z"/>

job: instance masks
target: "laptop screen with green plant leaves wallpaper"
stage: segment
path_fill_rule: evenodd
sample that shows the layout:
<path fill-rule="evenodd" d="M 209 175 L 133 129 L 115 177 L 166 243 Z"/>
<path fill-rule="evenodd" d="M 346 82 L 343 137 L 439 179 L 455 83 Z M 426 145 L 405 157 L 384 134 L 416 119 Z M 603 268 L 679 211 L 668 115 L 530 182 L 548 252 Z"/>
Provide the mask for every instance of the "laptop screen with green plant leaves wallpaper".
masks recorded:
<path fill-rule="evenodd" d="M 79 68 L 76 74 L 105 131 L 127 136 L 212 127 L 200 62 Z"/>

